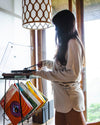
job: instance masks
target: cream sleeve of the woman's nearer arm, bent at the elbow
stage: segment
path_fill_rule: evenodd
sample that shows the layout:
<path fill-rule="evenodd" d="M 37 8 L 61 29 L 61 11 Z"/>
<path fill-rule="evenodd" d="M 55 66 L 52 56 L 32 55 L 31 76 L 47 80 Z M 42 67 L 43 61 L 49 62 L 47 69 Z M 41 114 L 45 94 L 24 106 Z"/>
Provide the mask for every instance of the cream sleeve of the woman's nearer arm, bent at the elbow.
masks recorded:
<path fill-rule="evenodd" d="M 73 39 L 68 43 L 68 60 L 66 70 L 53 70 L 44 71 L 40 70 L 36 72 L 36 75 L 41 76 L 44 79 L 58 82 L 72 82 L 76 81 L 79 77 L 81 69 L 81 47 L 79 43 Z"/>

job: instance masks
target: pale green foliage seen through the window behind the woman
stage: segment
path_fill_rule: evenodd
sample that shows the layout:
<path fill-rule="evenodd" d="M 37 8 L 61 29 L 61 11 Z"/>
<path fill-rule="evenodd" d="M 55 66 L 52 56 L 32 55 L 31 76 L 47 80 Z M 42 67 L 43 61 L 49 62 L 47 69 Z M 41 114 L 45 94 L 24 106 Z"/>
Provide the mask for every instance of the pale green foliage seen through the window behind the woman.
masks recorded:
<path fill-rule="evenodd" d="M 100 121 L 100 104 L 91 104 L 87 109 L 87 121 Z"/>

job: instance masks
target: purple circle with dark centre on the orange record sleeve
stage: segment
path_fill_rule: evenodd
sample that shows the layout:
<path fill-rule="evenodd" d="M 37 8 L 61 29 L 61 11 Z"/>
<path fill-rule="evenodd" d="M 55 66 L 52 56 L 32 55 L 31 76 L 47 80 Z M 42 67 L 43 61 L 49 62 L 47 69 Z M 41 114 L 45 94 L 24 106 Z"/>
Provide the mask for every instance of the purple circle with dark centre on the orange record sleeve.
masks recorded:
<path fill-rule="evenodd" d="M 10 111 L 11 111 L 11 114 L 12 114 L 14 117 L 21 117 L 20 103 L 17 102 L 17 101 L 13 101 L 13 102 L 10 104 Z"/>

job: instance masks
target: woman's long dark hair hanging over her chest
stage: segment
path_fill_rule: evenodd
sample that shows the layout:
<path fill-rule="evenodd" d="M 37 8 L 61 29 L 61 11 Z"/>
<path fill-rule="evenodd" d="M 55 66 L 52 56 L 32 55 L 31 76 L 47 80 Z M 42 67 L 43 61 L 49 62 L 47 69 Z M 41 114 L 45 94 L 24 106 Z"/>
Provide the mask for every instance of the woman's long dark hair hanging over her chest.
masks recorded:
<path fill-rule="evenodd" d="M 69 10 L 62 10 L 53 17 L 52 22 L 56 28 L 55 41 L 58 47 L 55 59 L 62 65 L 66 65 L 65 54 L 68 49 L 68 42 L 78 36 L 75 29 L 75 17 Z"/>

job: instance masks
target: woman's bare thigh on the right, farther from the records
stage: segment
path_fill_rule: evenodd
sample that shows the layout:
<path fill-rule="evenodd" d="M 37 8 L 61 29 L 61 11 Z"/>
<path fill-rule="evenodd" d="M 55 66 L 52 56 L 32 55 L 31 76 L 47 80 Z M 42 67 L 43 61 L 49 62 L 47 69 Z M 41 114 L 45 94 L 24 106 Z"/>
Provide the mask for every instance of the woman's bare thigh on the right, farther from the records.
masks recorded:
<path fill-rule="evenodd" d="M 66 120 L 69 125 L 86 125 L 83 113 L 73 109 L 69 113 L 66 113 Z"/>

